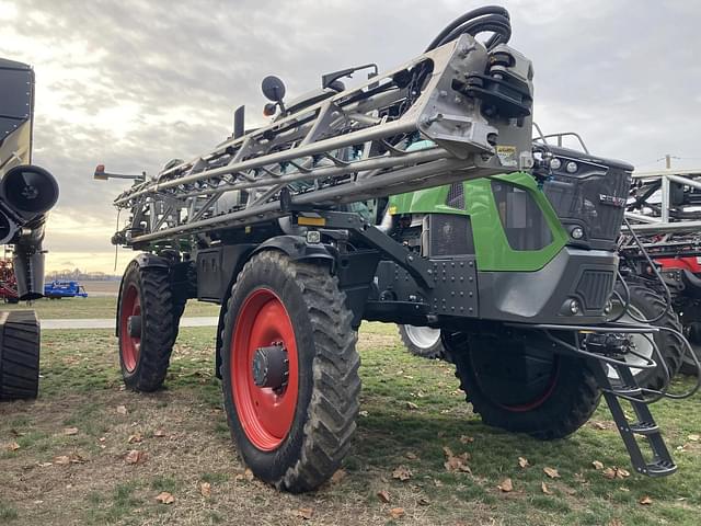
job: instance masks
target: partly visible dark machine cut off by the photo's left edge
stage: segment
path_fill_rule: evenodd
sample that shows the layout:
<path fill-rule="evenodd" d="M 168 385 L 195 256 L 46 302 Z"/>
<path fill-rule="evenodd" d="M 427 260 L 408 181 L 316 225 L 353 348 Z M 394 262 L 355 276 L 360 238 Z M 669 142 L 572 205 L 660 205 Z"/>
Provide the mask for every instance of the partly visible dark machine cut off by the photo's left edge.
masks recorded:
<path fill-rule="evenodd" d="M 58 199 L 54 176 L 31 164 L 33 121 L 34 71 L 0 58 L 0 242 L 13 248 L 2 286 L 13 302 L 44 294 L 44 225 Z M 38 382 L 36 316 L 0 312 L 0 401 L 34 398 Z"/>

